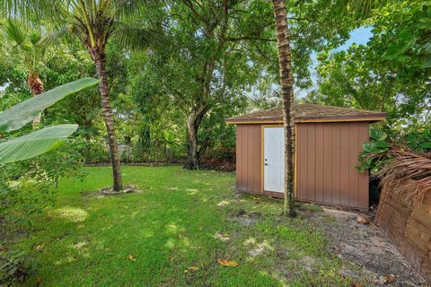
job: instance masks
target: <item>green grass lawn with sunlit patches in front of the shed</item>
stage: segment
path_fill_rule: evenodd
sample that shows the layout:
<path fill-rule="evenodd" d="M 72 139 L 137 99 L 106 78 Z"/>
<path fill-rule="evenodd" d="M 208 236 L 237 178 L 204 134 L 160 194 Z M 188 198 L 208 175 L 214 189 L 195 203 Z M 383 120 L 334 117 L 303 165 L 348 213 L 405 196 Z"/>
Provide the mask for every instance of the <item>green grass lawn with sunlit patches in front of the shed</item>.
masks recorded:
<path fill-rule="evenodd" d="M 279 200 L 234 196 L 232 173 L 123 167 L 142 193 L 96 196 L 110 168 L 85 170 L 83 182 L 59 182 L 55 206 L 17 239 L 31 254 L 25 286 L 351 285 L 318 227 L 280 217 Z"/>

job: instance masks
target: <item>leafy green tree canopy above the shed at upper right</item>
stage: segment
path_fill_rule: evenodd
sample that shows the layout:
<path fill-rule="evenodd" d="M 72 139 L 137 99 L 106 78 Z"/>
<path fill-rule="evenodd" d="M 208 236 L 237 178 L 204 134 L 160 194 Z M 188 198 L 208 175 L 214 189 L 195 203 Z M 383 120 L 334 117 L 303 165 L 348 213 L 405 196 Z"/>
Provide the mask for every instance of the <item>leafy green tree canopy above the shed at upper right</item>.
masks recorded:
<path fill-rule="evenodd" d="M 426 124 L 431 120 L 430 15 L 431 9 L 421 1 L 383 1 L 374 6 L 363 14 L 373 27 L 372 37 L 346 51 L 321 53 L 318 88 L 307 100 L 386 111 L 389 135 Z"/>

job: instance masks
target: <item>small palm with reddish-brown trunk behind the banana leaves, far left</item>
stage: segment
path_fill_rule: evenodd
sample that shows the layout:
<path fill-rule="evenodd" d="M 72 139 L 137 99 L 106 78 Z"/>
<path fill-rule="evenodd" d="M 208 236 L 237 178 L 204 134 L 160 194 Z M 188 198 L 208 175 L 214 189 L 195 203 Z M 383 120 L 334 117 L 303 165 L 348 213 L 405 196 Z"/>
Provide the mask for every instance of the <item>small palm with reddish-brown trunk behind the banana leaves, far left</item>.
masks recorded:
<path fill-rule="evenodd" d="M 27 83 L 34 96 L 43 92 L 43 83 L 40 80 L 39 69 L 45 61 L 48 42 L 43 41 L 40 28 L 26 25 L 13 19 L 7 19 L 0 24 L 0 33 L 4 42 L 4 54 L 13 52 L 21 58 L 22 64 L 28 70 Z M 11 45 L 12 44 L 12 45 Z M 12 50 L 6 47 L 12 46 Z M 33 129 L 40 124 L 41 113 L 33 119 Z"/>

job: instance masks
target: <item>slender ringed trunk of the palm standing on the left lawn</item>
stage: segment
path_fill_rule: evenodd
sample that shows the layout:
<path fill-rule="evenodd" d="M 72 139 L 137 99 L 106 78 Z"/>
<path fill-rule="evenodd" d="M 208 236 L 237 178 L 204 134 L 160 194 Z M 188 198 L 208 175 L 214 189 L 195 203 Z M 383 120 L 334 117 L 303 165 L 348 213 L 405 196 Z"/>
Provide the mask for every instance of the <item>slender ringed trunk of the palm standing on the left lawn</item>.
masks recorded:
<path fill-rule="evenodd" d="M 123 180 L 119 161 L 119 144 L 115 137 L 114 121 L 112 119 L 112 111 L 110 109 L 110 91 L 108 86 L 108 75 L 105 68 L 105 56 L 100 54 L 92 54 L 92 56 L 96 64 L 97 77 L 101 81 L 99 83 L 99 91 L 101 92 L 101 114 L 105 120 L 105 126 L 108 132 L 108 141 L 110 144 L 110 161 L 112 163 L 112 173 L 114 177 L 113 189 L 114 191 L 120 191 L 123 189 Z"/>

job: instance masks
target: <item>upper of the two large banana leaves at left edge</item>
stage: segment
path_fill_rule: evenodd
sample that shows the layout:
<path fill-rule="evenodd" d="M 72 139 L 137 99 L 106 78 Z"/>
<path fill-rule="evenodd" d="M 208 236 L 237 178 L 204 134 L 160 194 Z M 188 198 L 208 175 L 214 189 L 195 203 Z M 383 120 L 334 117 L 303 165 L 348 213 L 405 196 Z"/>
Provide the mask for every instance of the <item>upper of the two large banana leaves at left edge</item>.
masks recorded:
<path fill-rule="evenodd" d="M 0 114 L 0 133 L 9 133 L 30 123 L 43 109 L 55 104 L 67 95 L 82 91 L 99 83 L 93 78 L 83 78 L 46 91 L 29 100 L 24 100 Z"/>

